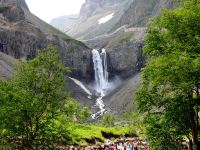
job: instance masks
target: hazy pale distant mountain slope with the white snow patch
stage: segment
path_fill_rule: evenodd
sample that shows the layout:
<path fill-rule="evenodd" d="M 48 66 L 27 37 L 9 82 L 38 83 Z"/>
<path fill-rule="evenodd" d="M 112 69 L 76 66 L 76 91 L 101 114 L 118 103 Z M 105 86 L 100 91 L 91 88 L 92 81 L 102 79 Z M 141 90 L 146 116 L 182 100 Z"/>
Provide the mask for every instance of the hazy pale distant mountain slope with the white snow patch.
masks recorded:
<path fill-rule="evenodd" d="M 90 39 L 108 33 L 134 0 L 86 0 L 79 21 L 63 31 L 78 39 Z M 110 17 L 109 17 L 110 16 Z"/>

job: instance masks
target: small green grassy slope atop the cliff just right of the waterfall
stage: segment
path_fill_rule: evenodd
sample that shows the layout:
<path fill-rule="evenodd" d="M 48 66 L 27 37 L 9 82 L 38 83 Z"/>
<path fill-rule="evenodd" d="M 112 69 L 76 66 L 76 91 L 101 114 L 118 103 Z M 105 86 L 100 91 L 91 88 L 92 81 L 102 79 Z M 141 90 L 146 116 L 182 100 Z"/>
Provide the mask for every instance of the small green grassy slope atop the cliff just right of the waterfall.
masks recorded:
<path fill-rule="evenodd" d="M 123 43 L 129 42 L 130 39 L 133 37 L 133 35 L 134 35 L 133 32 L 122 32 L 109 42 L 108 47 L 115 48 Z"/>

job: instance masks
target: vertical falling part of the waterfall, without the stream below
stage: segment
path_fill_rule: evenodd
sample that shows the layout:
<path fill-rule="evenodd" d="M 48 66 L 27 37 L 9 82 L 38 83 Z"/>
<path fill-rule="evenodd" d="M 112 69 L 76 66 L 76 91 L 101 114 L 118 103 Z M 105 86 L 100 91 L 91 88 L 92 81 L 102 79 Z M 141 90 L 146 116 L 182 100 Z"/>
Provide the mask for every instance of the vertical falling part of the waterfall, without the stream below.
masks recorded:
<path fill-rule="evenodd" d="M 106 50 L 102 49 L 101 53 L 99 53 L 98 50 L 94 49 L 92 56 L 95 72 L 95 90 L 101 95 L 105 95 L 105 91 L 109 86 Z"/>

